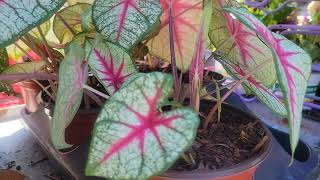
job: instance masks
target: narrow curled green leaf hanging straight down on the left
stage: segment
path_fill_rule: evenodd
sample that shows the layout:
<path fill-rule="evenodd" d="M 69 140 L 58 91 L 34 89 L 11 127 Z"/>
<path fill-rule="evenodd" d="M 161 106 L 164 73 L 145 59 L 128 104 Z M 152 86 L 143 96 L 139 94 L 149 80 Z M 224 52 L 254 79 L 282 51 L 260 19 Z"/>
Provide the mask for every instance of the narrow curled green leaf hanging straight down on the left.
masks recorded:
<path fill-rule="evenodd" d="M 84 49 L 78 44 L 70 45 L 70 50 L 59 68 L 59 87 L 51 127 L 51 139 L 56 149 L 66 149 L 72 145 L 65 142 L 65 128 L 77 113 L 83 86 L 87 81 L 87 65 Z"/>

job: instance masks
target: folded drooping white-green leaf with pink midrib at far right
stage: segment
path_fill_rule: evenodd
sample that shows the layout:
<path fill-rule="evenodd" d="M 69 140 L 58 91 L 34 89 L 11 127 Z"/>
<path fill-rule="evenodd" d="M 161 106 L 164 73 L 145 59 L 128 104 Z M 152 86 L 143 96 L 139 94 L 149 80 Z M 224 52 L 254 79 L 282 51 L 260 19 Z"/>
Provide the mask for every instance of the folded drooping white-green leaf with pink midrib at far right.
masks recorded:
<path fill-rule="evenodd" d="M 244 25 L 257 33 L 272 50 L 279 84 L 288 111 L 292 154 L 299 141 L 304 96 L 311 73 L 311 58 L 299 46 L 285 37 L 272 33 L 245 9 L 227 7 Z"/>

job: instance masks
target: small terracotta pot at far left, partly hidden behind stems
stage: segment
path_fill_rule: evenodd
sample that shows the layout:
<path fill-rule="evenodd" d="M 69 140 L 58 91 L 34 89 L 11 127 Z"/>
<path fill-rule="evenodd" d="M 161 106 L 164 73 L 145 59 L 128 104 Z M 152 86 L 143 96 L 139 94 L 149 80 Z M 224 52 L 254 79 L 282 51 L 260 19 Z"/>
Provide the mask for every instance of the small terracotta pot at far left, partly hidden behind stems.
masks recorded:
<path fill-rule="evenodd" d="M 37 96 L 41 88 L 33 81 L 22 81 L 18 85 L 21 88 L 21 94 L 28 113 L 36 112 L 40 108 Z"/>

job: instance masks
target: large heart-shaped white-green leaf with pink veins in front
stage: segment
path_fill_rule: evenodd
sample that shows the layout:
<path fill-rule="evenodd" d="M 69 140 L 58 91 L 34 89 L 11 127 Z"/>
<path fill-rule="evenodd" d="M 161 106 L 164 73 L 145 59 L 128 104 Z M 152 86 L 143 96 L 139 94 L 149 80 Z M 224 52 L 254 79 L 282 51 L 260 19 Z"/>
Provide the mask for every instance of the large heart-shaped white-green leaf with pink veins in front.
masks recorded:
<path fill-rule="evenodd" d="M 169 74 L 144 74 L 107 101 L 93 130 L 86 175 L 148 179 L 180 157 L 194 141 L 199 117 L 189 108 L 158 111 L 172 84 Z"/>

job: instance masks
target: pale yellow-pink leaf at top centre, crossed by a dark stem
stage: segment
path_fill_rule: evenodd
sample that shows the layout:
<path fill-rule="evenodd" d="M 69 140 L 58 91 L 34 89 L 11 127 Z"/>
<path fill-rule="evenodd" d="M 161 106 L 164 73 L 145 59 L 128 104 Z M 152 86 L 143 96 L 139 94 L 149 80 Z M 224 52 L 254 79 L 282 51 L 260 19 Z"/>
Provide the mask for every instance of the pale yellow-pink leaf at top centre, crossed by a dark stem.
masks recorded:
<path fill-rule="evenodd" d="M 149 41 L 150 52 L 170 62 L 169 7 L 172 6 L 177 67 L 188 71 L 202 17 L 202 0 L 160 0 L 163 15 L 159 34 Z"/>

